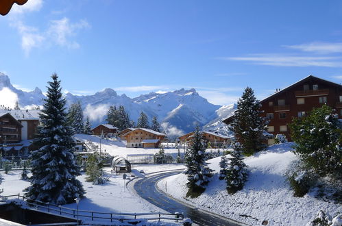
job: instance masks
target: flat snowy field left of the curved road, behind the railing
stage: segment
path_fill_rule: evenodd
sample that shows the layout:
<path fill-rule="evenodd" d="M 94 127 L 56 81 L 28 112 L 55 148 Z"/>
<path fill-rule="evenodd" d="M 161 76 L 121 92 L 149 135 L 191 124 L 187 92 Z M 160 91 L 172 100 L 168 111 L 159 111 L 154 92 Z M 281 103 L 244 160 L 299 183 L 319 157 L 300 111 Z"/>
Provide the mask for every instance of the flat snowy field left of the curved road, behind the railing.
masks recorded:
<path fill-rule="evenodd" d="M 139 173 L 143 170 L 145 173 L 154 173 L 165 171 L 169 169 L 179 169 L 184 168 L 182 164 L 140 164 L 132 166 L 132 173 L 137 177 L 143 176 Z M 80 201 L 80 210 L 90 210 L 94 212 L 115 212 L 115 213 L 149 213 L 149 212 L 165 212 L 156 206 L 151 205 L 149 202 L 141 199 L 140 197 L 132 192 L 130 186 L 123 187 L 124 182 L 122 175 L 116 175 L 115 173 L 110 173 L 110 168 L 105 168 L 106 175 L 109 177 L 109 181 L 103 185 L 93 185 L 90 182 L 85 181 L 86 175 L 81 175 L 77 177 L 79 179 L 84 189 L 86 190 L 86 197 Z M 21 171 L 10 171 L 6 175 L 3 171 L 0 171 L 3 180 L 0 184 L 0 189 L 3 188 L 3 193 L 1 195 L 12 195 L 21 194 L 23 195 L 23 189 L 29 186 L 29 182 L 20 179 Z M 128 178 L 130 173 L 127 173 Z M 76 204 L 63 205 L 67 208 L 76 209 Z M 89 218 L 83 218 L 86 222 Z M 89 221 L 91 222 L 91 221 Z M 163 225 L 164 223 L 158 224 Z M 167 225 L 179 225 L 175 221 L 168 222 Z"/>

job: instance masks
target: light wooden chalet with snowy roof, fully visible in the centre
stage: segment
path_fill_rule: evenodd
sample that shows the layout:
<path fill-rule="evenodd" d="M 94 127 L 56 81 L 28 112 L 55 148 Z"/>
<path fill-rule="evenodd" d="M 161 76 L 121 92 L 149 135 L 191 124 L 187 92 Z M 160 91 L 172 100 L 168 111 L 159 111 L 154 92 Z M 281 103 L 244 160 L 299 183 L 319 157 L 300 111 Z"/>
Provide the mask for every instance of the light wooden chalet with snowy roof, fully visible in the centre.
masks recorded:
<path fill-rule="evenodd" d="M 156 148 L 166 135 L 151 129 L 136 128 L 124 136 L 127 140 L 126 147 Z"/>

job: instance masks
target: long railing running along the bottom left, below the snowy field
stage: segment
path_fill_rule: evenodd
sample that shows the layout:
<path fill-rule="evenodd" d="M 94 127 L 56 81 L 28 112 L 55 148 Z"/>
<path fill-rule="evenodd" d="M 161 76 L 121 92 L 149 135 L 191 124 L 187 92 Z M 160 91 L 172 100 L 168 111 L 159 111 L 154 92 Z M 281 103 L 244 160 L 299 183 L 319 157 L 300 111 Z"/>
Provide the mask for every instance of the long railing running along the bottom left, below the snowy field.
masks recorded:
<path fill-rule="evenodd" d="M 61 205 L 54 205 L 50 203 L 43 203 L 41 201 L 36 201 L 33 199 L 28 199 L 19 194 L 12 194 L 1 196 L 1 198 L 5 198 L 7 200 L 9 197 L 17 197 L 19 200 L 26 201 L 28 206 L 32 206 L 31 210 L 38 210 L 40 212 L 47 212 L 49 214 L 58 214 L 60 216 L 72 216 L 73 218 L 83 217 L 83 218 L 91 218 L 91 221 L 94 219 L 99 220 L 108 220 L 112 221 L 160 221 L 160 220 L 171 220 L 171 221 L 179 221 L 184 219 L 184 214 L 169 214 L 162 212 L 155 213 L 108 213 L 108 212 L 95 212 L 89 210 L 75 210 L 72 208 L 65 208 Z M 142 217 L 146 216 L 146 217 Z"/>

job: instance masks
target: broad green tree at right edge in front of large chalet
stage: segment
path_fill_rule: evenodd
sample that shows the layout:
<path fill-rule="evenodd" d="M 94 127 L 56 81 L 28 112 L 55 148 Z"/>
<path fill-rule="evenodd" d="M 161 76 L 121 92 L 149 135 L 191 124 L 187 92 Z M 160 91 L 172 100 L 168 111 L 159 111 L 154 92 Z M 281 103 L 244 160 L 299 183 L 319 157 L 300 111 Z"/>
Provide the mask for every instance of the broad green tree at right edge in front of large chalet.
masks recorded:
<path fill-rule="evenodd" d="M 342 123 L 328 105 L 314 109 L 307 116 L 293 118 L 290 129 L 294 153 L 305 168 L 320 177 L 342 180 Z"/>

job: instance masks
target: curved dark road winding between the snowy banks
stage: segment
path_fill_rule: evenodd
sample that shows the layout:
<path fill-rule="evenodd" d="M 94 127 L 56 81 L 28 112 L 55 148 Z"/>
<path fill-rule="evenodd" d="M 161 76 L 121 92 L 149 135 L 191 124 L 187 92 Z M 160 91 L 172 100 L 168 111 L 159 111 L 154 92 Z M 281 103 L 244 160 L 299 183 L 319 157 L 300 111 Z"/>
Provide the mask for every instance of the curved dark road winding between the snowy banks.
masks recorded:
<path fill-rule="evenodd" d="M 191 208 L 190 205 L 185 205 L 167 196 L 163 192 L 158 190 L 156 183 L 164 177 L 169 177 L 181 173 L 182 171 L 172 171 L 162 174 L 157 174 L 149 177 L 145 177 L 135 182 L 134 190 L 136 193 L 146 199 L 150 203 L 162 208 L 167 212 L 183 212 L 185 217 L 191 218 L 191 220 L 198 225 L 222 225 L 222 226 L 236 226 L 238 223 L 208 212 L 203 212 L 197 208 Z"/>

